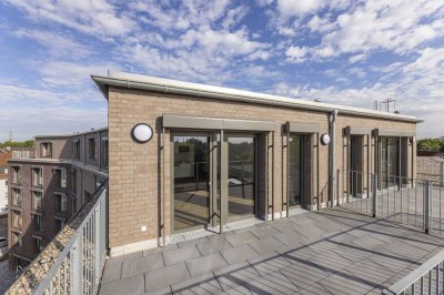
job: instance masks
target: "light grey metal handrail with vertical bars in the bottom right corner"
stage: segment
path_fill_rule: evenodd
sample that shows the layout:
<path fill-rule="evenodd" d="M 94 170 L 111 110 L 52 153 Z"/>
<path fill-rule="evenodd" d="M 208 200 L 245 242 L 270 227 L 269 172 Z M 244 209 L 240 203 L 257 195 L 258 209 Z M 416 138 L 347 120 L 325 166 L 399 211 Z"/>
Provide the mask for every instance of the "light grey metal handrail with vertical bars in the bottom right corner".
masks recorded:
<path fill-rule="evenodd" d="M 383 294 L 392 295 L 392 294 L 404 294 L 408 288 L 415 288 L 415 283 L 421 281 L 421 287 L 423 291 L 424 287 L 424 277 L 428 274 L 428 288 L 431 291 L 431 282 L 433 276 L 433 269 L 436 268 L 436 277 L 435 277 L 435 294 L 441 294 L 440 291 L 440 264 L 444 261 L 444 250 L 437 253 L 435 256 L 423 263 L 420 267 L 411 272 L 408 275 L 404 276 L 395 284 L 393 284 L 387 289 L 383 291 Z M 442 282 L 444 284 L 444 282 Z M 413 292 L 412 292 L 413 294 Z M 421 293 L 422 294 L 422 293 Z"/>

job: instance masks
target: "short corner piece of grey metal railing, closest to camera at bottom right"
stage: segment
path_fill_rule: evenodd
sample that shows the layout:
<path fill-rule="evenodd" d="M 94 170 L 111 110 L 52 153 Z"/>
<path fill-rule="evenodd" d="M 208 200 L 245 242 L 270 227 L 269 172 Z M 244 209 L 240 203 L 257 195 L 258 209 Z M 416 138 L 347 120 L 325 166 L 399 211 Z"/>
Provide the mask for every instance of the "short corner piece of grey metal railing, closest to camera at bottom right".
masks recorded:
<path fill-rule="evenodd" d="M 444 250 L 404 276 L 383 294 L 443 294 Z"/>

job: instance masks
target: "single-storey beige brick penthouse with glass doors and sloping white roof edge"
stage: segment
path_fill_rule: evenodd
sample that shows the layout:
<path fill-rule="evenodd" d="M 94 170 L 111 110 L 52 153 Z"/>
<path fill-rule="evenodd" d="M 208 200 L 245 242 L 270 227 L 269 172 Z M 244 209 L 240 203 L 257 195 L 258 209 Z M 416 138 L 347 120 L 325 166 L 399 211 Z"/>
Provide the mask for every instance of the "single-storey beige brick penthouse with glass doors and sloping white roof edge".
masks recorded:
<path fill-rule="evenodd" d="M 341 202 L 337 170 L 415 177 L 414 116 L 120 72 L 92 80 L 109 104 L 112 256 Z M 370 176 L 355 183 L 366 197 Z"/>

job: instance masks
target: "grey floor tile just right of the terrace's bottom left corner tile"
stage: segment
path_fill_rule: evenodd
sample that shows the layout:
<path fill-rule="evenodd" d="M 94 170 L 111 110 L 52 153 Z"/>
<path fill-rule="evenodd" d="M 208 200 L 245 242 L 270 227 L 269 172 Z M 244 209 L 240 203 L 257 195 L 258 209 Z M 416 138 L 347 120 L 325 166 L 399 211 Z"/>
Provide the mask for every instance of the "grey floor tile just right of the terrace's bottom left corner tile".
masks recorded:
<path fill-rule="evenodd" d="M 145 273 L 147 292 L 190 279 L 185 263 L 179 263 Z"/>

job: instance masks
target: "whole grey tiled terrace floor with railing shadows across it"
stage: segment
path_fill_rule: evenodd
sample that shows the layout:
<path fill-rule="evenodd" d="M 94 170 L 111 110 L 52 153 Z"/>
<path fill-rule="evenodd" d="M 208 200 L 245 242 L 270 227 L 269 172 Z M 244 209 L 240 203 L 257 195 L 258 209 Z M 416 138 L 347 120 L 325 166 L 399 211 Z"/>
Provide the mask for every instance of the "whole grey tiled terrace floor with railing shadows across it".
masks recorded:
<path fill-rule="evenodd" d="M 100 294 L 381 294 L 443 245 L 327 208 L 110 258 Z"/>

